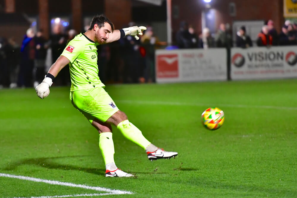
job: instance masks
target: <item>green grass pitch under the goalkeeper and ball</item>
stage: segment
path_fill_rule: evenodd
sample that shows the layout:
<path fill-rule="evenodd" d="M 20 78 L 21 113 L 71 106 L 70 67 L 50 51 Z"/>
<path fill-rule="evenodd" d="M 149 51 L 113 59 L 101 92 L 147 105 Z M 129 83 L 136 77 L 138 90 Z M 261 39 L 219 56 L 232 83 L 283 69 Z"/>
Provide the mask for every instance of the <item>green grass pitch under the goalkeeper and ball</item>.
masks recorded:
<path fill-rule="evenodd" d="M 149 161 L 113 127 L 115 161 L 137 178 L 105 178 L 99 135 L 69 101 L 68 87 L 39 99 L 0 90 L 0 173 L 99 186 L 108 197 L 297 197 L 297 79 L 108 85 L 106 90 L 153 144 L 176 159 Z M 215 131 L 200 122 L 219 107 Z M 106 193 L 0 177 L 0 197 Z"/>

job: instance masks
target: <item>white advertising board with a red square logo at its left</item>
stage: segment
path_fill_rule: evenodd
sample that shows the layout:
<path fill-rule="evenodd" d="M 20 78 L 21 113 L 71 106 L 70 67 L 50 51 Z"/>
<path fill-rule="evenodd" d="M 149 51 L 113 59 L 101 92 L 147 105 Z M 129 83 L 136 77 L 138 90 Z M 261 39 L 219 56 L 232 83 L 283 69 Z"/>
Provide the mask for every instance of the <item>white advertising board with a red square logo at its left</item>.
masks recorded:
<path fill-rule="evenodd" d="M 225 49 L 156 50 L 157 83 L 227 80 Z"/>

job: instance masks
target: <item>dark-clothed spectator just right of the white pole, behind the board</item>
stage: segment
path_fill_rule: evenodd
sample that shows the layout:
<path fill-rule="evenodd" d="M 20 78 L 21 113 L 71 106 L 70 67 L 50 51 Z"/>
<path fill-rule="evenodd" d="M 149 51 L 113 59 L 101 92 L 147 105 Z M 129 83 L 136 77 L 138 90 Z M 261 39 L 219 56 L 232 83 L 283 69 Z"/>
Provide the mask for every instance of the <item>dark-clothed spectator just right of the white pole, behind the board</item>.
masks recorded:
<path fill-rule="evenodd" d="M 191 38 L 189 33 L 189 26 L 188 23 L 182 21 L 180 23 L 180 28 L 176 33 L 176 43 L 178 48 L 190 48 L 191 47 Z"/>

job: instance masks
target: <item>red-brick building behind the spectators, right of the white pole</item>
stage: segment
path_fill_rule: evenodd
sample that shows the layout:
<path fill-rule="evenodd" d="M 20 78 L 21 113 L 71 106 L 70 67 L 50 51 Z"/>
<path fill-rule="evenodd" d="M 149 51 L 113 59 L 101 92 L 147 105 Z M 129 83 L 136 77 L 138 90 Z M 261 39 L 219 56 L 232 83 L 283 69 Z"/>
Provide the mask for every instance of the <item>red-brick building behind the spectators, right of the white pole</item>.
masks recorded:
<path fill-rule="evenodd" d="M 171 4 L 173 33 L 178 30 L 182 20 L 187 21 L 197 32 L 201 32 L 203 17 L 207 18 L 207 14 L 211 14 L 213 17 L 211 22 L 214 23 L 208 25 L 213 25 L 214 31 L 217 31 L 220 23 L 228 23 L 233 26 L 237 21 L 263 21 L 266 23 L 271 19 L 274 21 L 277 31 L 280 32 L 284 23 L 283 0 L 212 0 L 209 3 L 210 7 L 206 7 L 203 0 L 171 0 Z M 254 31 L 260 30 L 259 28 Z"/>

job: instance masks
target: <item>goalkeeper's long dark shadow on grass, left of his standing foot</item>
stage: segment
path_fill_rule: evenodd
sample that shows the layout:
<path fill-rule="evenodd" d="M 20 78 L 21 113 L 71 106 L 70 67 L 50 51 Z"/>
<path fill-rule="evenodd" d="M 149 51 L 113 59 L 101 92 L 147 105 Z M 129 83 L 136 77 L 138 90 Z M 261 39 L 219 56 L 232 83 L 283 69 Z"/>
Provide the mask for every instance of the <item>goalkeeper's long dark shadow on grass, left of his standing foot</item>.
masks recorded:
<path fill-rule="evenodd" d="M 48 157 L 48 158 L 31 158 L 31 159 L 22 159 L 16 161 L 14 163 L 9 164 L 7 167 L 4 167 L 2 170 L 15 170 L 18 166 L 21 165 L 35 165 L 48 169 L 59 169 L 59 170 L 78 170 L 84 171 L 87 173 L 92 173 L 95 175 L 104 175 L 105 169 L 98 168 L 86 168 L 86 167 L 78 167 L 75 165 L 69 164 L 60 164 L 52 161 L 53 159 L 62 159 L 62 158 L 77 158 L 77 157 L 86 157 L 86 156 L 63 156 L 63 157 Z"/>

